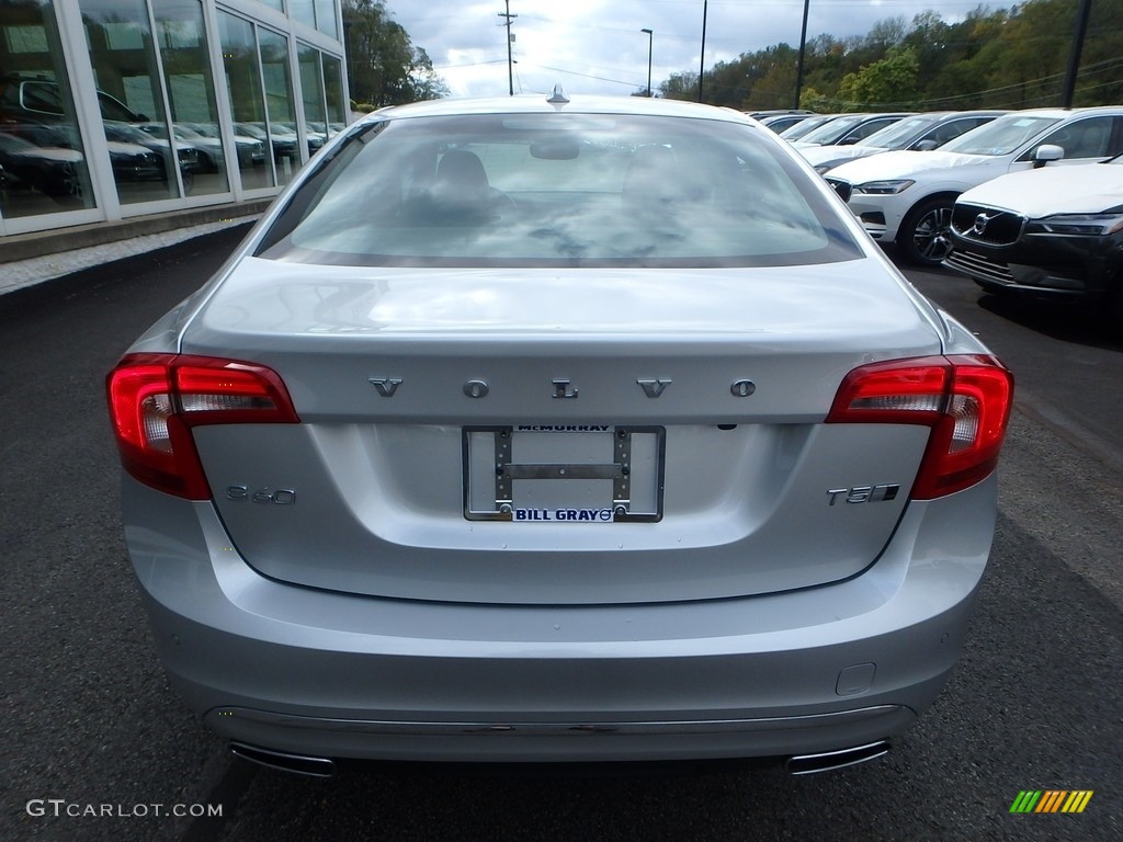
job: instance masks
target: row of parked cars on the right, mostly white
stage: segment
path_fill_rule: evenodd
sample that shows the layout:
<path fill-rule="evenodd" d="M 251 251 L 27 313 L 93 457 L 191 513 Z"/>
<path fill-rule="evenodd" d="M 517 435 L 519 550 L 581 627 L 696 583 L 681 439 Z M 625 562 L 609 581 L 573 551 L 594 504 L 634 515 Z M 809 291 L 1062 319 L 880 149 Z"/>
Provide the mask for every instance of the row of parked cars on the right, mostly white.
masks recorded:
<path fill-rule="evenodd" d="M 1101 302 L 1123 331 L 1123 107 L 898 116 L 814 143 L 885 117 L 804 117 L 780 137 L 910 263 L 989 292 Z"/>

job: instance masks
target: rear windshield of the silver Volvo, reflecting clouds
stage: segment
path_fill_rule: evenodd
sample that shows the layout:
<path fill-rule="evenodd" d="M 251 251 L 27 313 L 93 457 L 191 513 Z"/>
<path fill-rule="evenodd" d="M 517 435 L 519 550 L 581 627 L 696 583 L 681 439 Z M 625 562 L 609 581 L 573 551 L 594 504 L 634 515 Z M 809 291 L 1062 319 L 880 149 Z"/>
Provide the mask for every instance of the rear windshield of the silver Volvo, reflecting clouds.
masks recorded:
<path fill-rule="evenodd" d="M 358 266 L 749 266 L 860 250 L 812 176 L 759 129 L 546 113 L 359 127 L 290 198 L 257 254 Z"/>

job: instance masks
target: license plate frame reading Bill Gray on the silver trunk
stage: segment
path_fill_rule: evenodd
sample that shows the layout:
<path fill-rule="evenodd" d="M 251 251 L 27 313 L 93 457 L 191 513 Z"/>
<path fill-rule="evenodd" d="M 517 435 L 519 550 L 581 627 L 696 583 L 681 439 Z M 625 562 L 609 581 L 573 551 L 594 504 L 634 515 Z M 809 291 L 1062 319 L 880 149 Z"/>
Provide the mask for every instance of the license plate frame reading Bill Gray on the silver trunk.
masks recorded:
<path fill-rule="evenodd" d="M 465 427 L 463 452 L 464 516 L 471 521 L 663 519 L 663 427 Z"/>

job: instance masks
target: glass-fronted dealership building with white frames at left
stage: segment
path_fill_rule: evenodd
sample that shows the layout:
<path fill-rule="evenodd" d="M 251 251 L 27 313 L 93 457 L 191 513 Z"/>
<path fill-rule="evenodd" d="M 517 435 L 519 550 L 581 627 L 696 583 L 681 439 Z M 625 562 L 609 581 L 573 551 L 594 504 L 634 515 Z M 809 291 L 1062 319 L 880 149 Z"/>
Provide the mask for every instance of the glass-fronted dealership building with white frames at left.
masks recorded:
<path fill-rule="evenodd" d="M 347 106 L 339 0 L 0 0 L 0 251 L 259 209 Z"/>

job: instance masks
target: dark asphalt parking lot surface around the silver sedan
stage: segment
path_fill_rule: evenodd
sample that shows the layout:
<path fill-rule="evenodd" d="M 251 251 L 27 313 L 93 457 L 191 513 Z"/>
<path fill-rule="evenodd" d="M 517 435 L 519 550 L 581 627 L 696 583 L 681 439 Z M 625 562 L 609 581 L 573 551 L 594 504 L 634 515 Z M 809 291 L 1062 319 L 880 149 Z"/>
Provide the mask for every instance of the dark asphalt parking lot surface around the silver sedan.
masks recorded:
<path fill-rule="evenodd" d="M 980 304 L 943 273 L 909 274 L 1011 365 L 1017 411 L 962 661 L 887 758 L 802 779 L 383 767 L 327 781 L 230 759 L 156 662 L 102 378 L 244 230 L 0 296 L 0 840 L 1123 838 L 1123 346 L 1080 314 Z M 1078 815 L 1012 814 L 1026 789 L 1094 795 Z"/>

